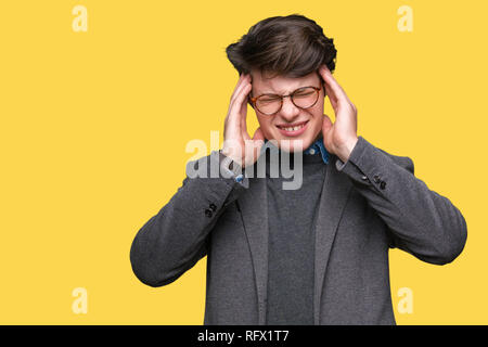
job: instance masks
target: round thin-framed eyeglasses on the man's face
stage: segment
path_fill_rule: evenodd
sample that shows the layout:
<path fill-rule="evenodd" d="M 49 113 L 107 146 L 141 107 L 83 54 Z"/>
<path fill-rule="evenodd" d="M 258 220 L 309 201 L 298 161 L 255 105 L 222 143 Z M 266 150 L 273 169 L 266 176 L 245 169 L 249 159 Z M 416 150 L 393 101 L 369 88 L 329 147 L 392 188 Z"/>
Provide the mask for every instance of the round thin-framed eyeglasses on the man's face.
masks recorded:
<path fill-rule="evenodd" d="M 293 104 L 298 108 L 310 108 L 319 100 L 319 93 L 321 88 L 317 87 L 301 87 L 287 95 L 278 94 L 261 94 L 259 97 L 252 98 L 249 101 L 262 114 L 271 116 L 280 112 L 283 106 L 283 99 L 290 97 Z"/>

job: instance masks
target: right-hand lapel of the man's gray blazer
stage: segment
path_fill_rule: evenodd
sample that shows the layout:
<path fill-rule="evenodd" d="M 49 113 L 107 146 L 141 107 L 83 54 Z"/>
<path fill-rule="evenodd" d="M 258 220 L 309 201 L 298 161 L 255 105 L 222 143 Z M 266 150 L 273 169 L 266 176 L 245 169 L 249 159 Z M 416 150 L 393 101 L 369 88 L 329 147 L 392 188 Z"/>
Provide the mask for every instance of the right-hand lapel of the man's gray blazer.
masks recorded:
<path fill-rule="evenodd" d="M 320 303 L 332 244 L 352 188 L 347 176 L 337 171 L 334 167 L 336 160 L 337 156 L 331 155 L 317 216 L 313 287 L 313 321 L 316 325 L 320 324 Z"/>

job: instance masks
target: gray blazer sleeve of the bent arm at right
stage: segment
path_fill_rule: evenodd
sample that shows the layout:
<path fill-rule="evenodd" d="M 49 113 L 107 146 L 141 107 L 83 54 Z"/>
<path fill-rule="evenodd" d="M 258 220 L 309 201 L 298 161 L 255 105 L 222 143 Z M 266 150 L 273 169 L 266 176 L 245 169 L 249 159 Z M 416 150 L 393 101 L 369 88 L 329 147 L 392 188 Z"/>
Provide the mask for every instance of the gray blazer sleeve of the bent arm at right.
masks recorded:
<path fill-rule="evenodd" d="M 390 155 L 359 137 L 348 160 L 335 164 L 388 227 L 390 247 L 435 265 L 461 254 L 467 237 L 464 217 L 414 176 L 411 158 Z"/>

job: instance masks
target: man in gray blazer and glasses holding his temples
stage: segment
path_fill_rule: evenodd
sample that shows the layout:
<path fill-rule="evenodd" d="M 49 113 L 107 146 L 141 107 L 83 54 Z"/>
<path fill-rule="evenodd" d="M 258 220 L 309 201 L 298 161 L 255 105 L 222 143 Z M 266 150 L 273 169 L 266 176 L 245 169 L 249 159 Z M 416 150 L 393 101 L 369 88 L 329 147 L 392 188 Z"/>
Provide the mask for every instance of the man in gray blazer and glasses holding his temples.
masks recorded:
<path fill-rule="evenodd" d="M 138 232 L 136 275 L 166 285 L 207 255 L 204 324 L 395 324 L 388 249 L 448 264 L 466 241 L 463 216 L 414 177 L 409 157 L 357 136 L 356 107 L 332 76 L 333 40 L 313 21 L 264 20 L 227 53 L 241 76 L 222 150 L 191 162 Z M 253 138 L 247 102 L 259 121 Z M 273 147 L 303 158 L 298 189 L 271 174 Z M 189 175 L 215 165 L 217 178 Z"/>

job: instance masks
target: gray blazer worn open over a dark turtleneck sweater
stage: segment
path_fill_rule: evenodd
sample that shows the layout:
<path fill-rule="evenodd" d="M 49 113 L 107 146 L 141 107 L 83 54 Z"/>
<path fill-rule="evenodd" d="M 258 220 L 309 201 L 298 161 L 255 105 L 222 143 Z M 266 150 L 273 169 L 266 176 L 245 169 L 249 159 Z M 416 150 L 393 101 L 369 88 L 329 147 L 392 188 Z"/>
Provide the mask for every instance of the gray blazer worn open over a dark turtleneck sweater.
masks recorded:
<path fill-rule="evenodd" d="M 190 164 L 209 167 L 215 153 Z M 409 157 L 362 137 L 346 163 L 332 154 L 329 163 L 316 229 L 314 324 L 395 324 L 388 249 L 448 264 L 464 247 L 466 222 L 415 178 Z M 174 282 L 207 256 L 204 324 L 266 323 L 266 179 L 245 183 L 187 177 L 130 249 L 134 274 L 150 286 Z"/>

